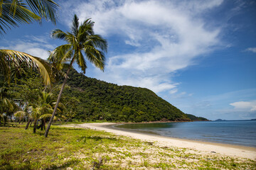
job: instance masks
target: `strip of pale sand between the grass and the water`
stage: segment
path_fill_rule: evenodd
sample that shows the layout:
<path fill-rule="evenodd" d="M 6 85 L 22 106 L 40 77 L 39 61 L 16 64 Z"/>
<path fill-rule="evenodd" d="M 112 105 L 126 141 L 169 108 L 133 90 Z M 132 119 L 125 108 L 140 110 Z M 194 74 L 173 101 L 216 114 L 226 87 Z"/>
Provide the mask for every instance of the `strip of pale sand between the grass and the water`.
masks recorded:
<path fill-rule="evenodd" d="M 111 125 L 115 124 L 116 123 L 84 123 L 65 126 L 73 128 L 90 128 L 94 130 L 103 130 L 105 132 L 112 132 L 115 135 L 124 135 L 127 137 L 132 137 L 134 139 L 145 140 L 147 142 L 154 142 L 155 145 L 159 145 L 161 147 L 183 147 L 193 149 L 194 151 L 200 152 L 201 154 L 222 154 L 229 157 L 242 157 L 256 160 L 256 148 L 254 147 L 242 147 L 237 145 L 226 145 L 212 142 L 200 142 L 193 140 L 183 140 L 172 137 L 147 135 L 112 128 Z"/>

